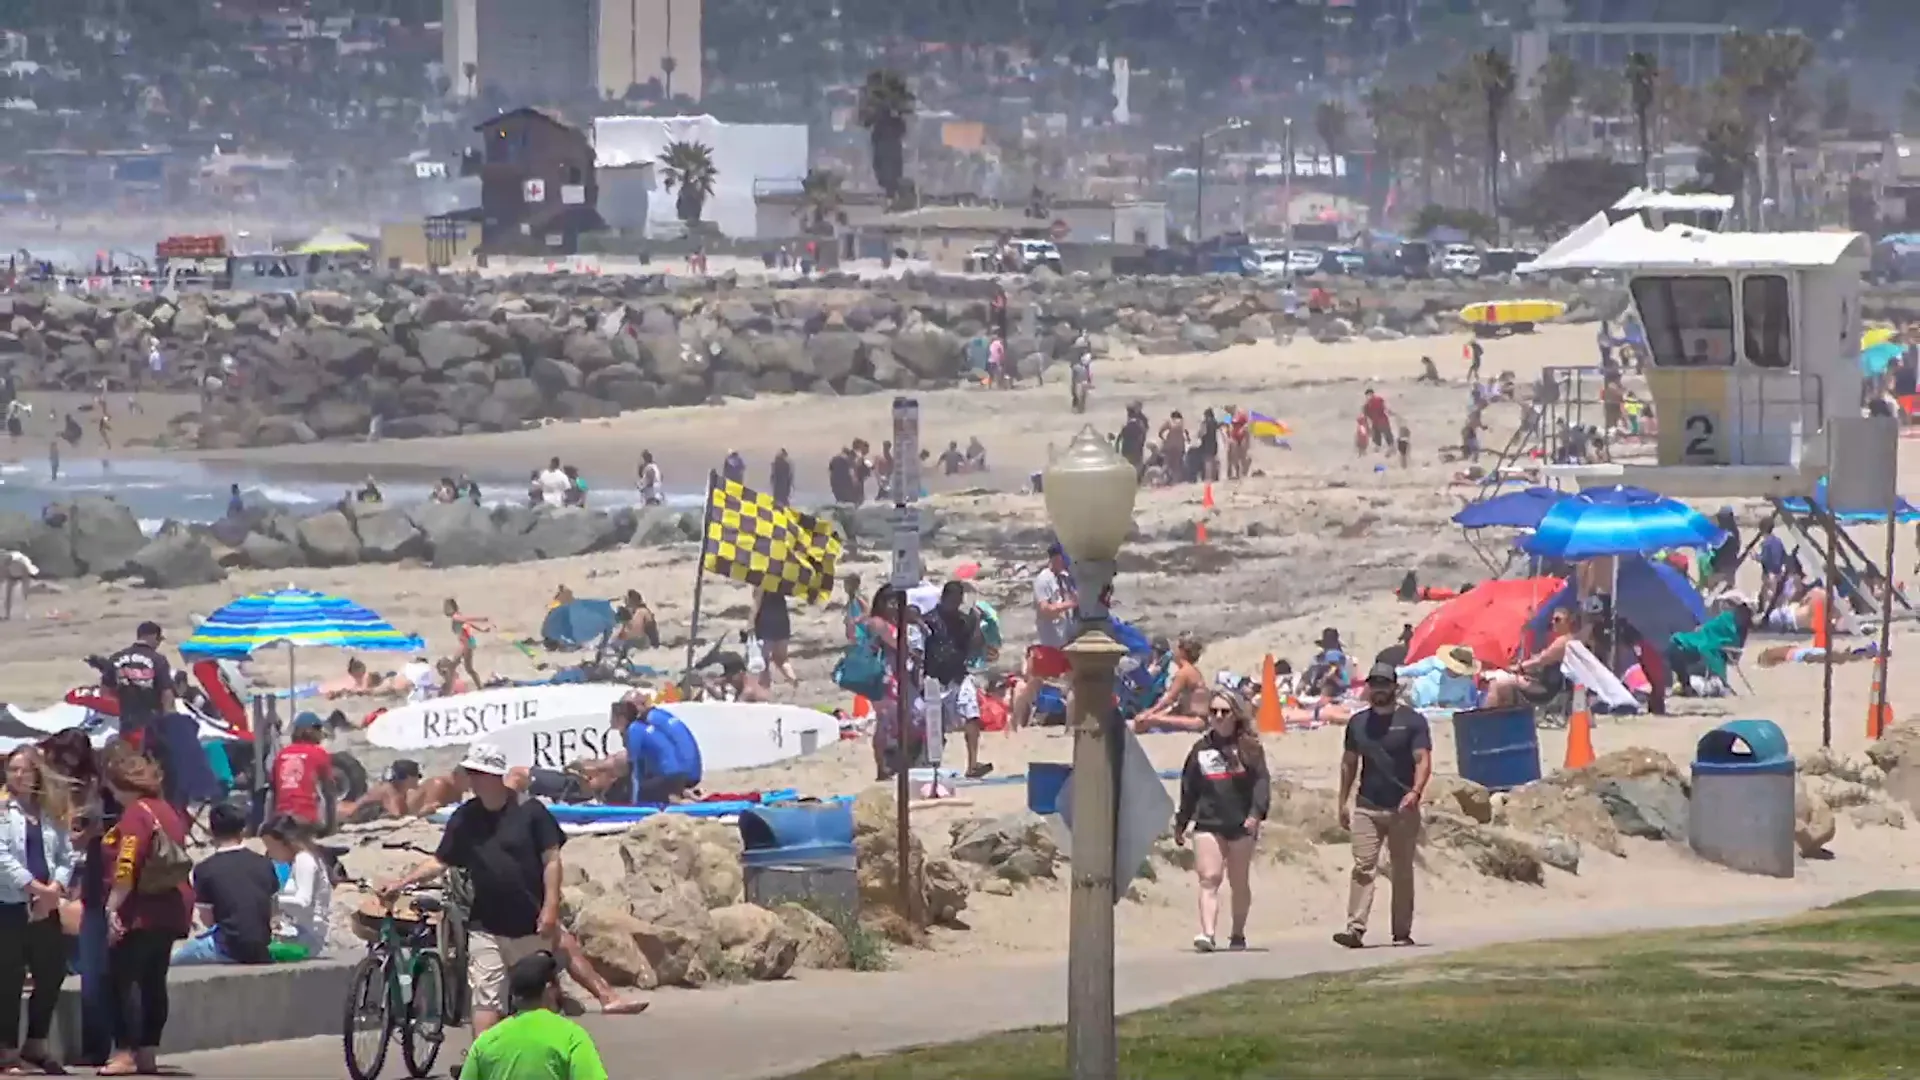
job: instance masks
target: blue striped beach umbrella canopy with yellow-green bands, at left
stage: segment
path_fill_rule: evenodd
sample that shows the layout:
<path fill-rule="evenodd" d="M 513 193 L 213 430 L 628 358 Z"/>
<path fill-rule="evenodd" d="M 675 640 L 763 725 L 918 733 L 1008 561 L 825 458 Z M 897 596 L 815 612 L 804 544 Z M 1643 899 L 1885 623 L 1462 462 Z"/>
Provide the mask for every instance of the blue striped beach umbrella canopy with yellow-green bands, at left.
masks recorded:
<path fill-rule="evenodd" d="M 424 642 L 401 634 L 372 611 L 324 592 L 282 588 L 242 596 L 207 617 L 180 655 L 242 659 L 269 646 L 338 648 L 359 651 L 420 651 Z"/>

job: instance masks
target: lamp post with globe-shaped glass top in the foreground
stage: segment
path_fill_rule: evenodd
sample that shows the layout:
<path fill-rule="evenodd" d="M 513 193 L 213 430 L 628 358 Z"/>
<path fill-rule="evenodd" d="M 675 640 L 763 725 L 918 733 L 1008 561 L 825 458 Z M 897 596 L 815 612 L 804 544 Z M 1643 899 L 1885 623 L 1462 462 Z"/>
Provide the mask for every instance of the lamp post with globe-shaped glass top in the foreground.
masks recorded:
<path fill-rule="evenodd" d="M 1108 632 L 1104 594 L 1133 528 L 1139 477 L 1091 425 L 1048 467 L 1046 517 L 1073 559 L 1079 632 L 1073 665 L 1073 855 L 1068 909 L 1068 1070 L 1073 1080 L 1116 1080 L 1114 834 L 1119 817 L 1123 730 L 1114 711 L 1114 667 L 1125 655 Z"/>

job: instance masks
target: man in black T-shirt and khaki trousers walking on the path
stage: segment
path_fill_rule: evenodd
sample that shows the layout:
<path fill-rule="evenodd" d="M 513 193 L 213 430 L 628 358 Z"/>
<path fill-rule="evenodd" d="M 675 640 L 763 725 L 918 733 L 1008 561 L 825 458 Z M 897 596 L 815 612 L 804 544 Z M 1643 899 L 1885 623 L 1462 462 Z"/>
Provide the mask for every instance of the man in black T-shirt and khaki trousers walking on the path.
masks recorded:
<path fill-rule="evenodd" d="M 1354 884 L 1346 897 L 1346 930 L 1332 940 L 1350 949 L 1357 949 L 1367 934 L 1382 846 L 1394 888 L 1394 944 L 1413 944 L 1413 849 L 1421 836 L 1421 796 L 1432 776 L 1434 740 L 1427 717 L 1398 698 L 1394 669 L 1377 663 L 1367 673 L 1367 707 L 1346 723 L 1340 824 L 1354 832 Z"/>

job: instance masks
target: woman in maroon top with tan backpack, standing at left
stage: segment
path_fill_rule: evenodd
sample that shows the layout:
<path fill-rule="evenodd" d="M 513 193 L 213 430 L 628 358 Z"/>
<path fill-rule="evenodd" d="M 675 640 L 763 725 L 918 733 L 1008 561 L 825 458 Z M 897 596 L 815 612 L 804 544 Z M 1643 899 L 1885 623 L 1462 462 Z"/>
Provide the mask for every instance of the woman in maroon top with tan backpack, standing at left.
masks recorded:
<path fill-rule="evenodd" d="M 108 892 L 108 972 L 113 1011 L 113 1057 L 100 1076 L 152 1074 L 167 1026 L 167 967 L 173 944 L 192 932 L 194 863 L 186 855 L 186 821 L 159 796 L 159 765 L 127 744 L 108 749 L 106 782 L 121 803 L 106 836 L 113 853 Z M 171 844 L 161 844 L 165 836 Z"/>

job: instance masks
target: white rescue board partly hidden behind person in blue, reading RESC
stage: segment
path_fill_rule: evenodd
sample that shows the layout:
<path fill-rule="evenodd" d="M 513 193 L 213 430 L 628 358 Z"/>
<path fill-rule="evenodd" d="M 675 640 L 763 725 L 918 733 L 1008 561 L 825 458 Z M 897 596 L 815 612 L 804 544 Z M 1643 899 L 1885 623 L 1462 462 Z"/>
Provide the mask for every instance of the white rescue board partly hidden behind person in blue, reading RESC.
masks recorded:
<path fill-rule="evenodd" d="M 708 776 L 724 769 L 776 765 L 839 740 L 837 719 L 803 705 L 678 701 L 657 707 L 687 724 L 693 740 L 701 744 L 701 767 Z M 509 767 L 528 769 L 564 769 L 574 761 L 609 757 L 624 749 L 607 723 L 605 709 L 597 719 L 509 724 L 476 742 L 501 748 Z"/>

